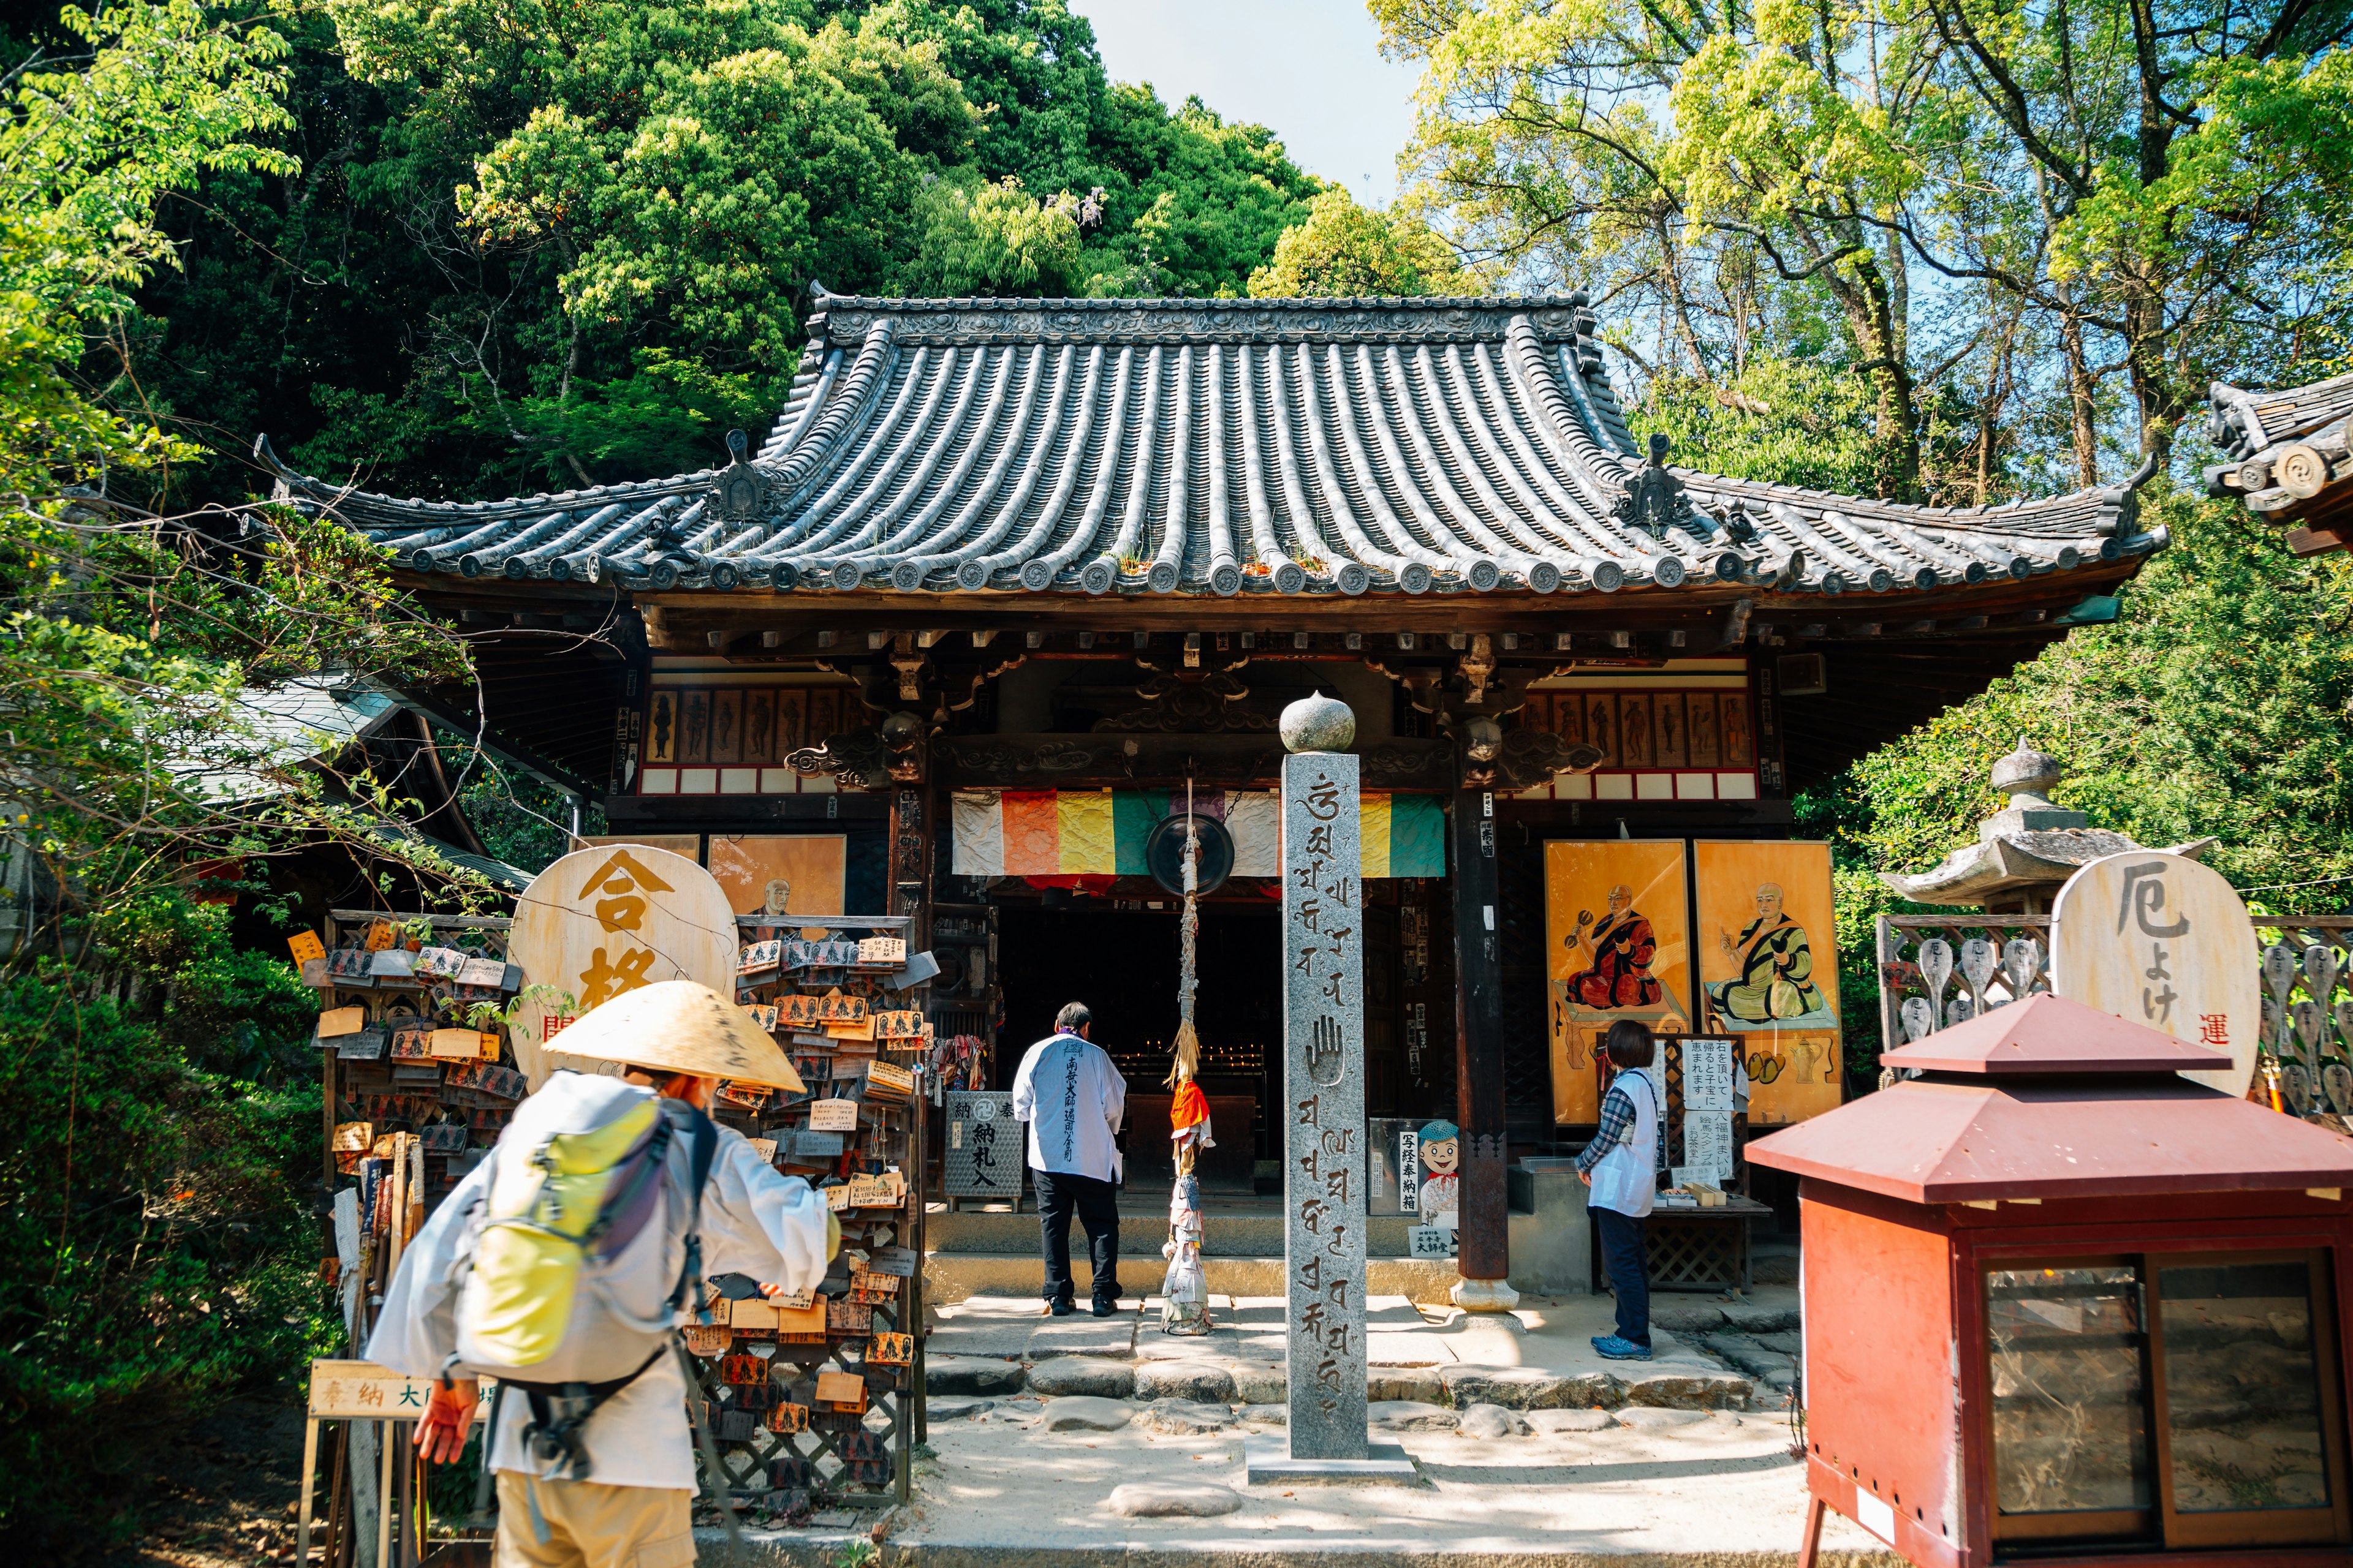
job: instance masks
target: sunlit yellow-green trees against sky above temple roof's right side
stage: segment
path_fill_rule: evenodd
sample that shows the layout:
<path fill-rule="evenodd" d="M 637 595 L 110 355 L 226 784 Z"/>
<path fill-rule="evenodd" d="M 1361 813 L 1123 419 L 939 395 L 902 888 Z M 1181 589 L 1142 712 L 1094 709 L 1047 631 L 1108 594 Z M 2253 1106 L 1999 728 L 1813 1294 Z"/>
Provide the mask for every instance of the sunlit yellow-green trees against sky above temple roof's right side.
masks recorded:
<path fill-rule="evenodd" d="M 2341 7 L 1374 14 L 1424 66 L 1412 195 L 1466 254 L 1607 292 L 1645 381 L 1737 381 L 1826 313 L 1880 494 L 2092 484 L 2167 454 L 2207 378 L 2344 331 Z"/>

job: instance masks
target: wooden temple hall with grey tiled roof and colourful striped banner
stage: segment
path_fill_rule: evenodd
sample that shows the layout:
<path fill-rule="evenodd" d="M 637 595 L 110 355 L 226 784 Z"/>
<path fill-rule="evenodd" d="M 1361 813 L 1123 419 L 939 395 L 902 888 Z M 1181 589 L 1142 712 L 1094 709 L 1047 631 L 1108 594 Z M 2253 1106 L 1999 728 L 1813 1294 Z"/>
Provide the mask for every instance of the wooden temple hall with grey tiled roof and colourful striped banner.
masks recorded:
<path fill-rule="evenodd" d="M 1591 1030 L 1732 1034 L 1748 1119 L 1842 1095 L 1828 856 L 1791 795 L 1981 691 L 2165 545 L 2132 487 L 1897 505 L 1678 468 L 1581 294 L 908 301 L 819 292 L 765 440 L 685 475 L 414 501 L 280 468 L 475 632 L 480 722 L 751 912 L 911 914 L 941 1039 L 1071 997 L 1132 1095 L 1176 1023 L 1151 830 L 1233 842 L 1202 1084 L 1273 1180 L 1282 705 L 1358 717 L 1367 1100 L 1581 1138 Z M 266 447 L 264 447 L 266 454 Z M 275 461 L 275 458 L 273 458 Z M 1574 983 L 1572 983 L 1574 980 Z M 1240 1121 L 1235 1121 L 1240 1119 Z"/>

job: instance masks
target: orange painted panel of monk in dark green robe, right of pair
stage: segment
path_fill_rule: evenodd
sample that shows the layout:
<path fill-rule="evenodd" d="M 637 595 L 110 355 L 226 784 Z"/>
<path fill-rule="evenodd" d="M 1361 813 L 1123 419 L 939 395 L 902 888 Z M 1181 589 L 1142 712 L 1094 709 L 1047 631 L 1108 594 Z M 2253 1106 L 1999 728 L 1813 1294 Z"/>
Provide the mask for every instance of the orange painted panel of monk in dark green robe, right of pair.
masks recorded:
<path fill-rule="evenodd" d="M 1692 844 L 1699 992 L 1711 1032 L 1741 1044 L 1753 1128 L 1842 1098 L 1828 844 Z"/>

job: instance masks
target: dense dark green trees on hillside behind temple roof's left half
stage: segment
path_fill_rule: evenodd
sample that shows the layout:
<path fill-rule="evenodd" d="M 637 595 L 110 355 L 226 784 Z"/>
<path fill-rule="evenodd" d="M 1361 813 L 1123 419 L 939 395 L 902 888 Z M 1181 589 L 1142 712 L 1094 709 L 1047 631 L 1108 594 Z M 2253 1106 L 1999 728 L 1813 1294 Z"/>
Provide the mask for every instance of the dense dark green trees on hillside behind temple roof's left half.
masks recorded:
<path fill-rule="evenodd" d="M 172 197 L 181 270 L 85 367 L 205 449 L 169 470 L 186 501 L 266 487 L 256 430 L 395 494 L 696 468 L 774 416 L 807 282 L 918 287 L 941 186 L 1101 193 L 1075 268 L 969 287 L 1202 296 L 1240 294 L 1318 188 L 1264 127 L 1111 82 L 1061 0 L 468 0 L 273 26 L 292 125 L 271 143 L 299 174 L 216 169 Z M 715 71 L 784 92 L 781 118 L 732 120 Z M 746 162 L 795 125 L 845 141 Z"/>

